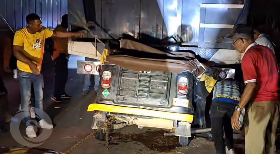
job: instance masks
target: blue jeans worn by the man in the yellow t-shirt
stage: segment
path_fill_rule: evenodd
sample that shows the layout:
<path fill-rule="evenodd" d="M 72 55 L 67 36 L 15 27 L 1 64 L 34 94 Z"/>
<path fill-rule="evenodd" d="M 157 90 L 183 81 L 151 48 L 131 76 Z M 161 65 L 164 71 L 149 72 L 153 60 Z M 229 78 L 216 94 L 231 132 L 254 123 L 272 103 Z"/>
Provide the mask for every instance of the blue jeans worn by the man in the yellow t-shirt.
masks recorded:
<path fill-rule="evenodd" d="M 35 75 L 28 72 L 18 71 L 19 72 L 19 87 L 20 87 L 20 95 L 21 95 L 21 105 L 22 109 L 27 108 L 26 112 L 22 112 L 22 116 L 24 121 L 27 122 L 26 125 L 30 126 L 31 124 L 28 122 L 31 120 L 30 117 L 30 104 L 31 104 L 31 85 L 34 87 L 34 96 L 35 96 L 35 108 L 40 109 L 39 112 L 36 112 L 39 119 L 44 119 L 43 114 L 43 88 L 44 88 L 44 80 L 43 75 Z M 28 112 L 27 112 L 28 111 Z"/>

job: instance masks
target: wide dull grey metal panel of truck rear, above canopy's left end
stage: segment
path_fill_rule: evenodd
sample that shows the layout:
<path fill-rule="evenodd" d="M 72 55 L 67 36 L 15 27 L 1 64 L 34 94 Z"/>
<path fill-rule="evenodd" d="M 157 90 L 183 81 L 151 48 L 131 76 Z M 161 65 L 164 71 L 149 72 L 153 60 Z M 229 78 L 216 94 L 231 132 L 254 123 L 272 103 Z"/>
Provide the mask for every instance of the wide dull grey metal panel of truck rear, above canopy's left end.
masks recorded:
<path fill-rule="evenodd" d="M 118 38 L 122 34 L 138 38 L 139 24 L 140 0 L 102 1 L 102 38 Z"/>

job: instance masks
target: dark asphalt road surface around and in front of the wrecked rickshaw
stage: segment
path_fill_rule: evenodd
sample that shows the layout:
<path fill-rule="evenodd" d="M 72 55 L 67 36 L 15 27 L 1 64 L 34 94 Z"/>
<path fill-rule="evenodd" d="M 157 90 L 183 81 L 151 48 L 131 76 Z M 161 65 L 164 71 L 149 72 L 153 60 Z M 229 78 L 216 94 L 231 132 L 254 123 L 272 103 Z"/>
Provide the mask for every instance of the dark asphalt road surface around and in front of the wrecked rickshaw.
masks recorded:
<path fill-rule="evenodd" d="M 19 101 L 18 84 L 6 77 L 5 83 L 9 90 L 9 100 L 12 107 L 17 107 Z M 69 70 L 69 79 L 66 92 L 72 95 L 71 100 L 62 103 L 55 103 L 50 100 L 52 94 L 53 70 L 44 73 L 44 110 L 51 117 L 54 123 L 51 136 L 40 145 L 42 148 L 57 150 L 71 154 L 124 154 L 124 153 L 215 153 L 214 143 L 202 136 L 194 136 L 188 146 L 180 146 L 178 137 L 164 137 L 164 130 L 129 126 L 120 130 L 113 130 L 109 150 L 106 150 L 106 141 L 98 141 L 93 136 L 85 140 L 85 137 L 92 133 L 92 113 L 87 112 L 87 107 L 95 100 L 95 93 L 92 91 L 87 96 L 82 95 L 83 75 L 77 74 L 75 69 Z M 9 131 L 9 123 L 6 123 L 6 132 L 0 132 L 0 146 L 18 146 Z M 21 126 L 22 135 L 24 126 Z M 244 139 L 241 133 L 234 134 L 235 148 L 239 153 L 244 151 Z M 83 141 L 82 143 L 79 143 Z M 78 145 L 73 148 L 74 145 Z"/>

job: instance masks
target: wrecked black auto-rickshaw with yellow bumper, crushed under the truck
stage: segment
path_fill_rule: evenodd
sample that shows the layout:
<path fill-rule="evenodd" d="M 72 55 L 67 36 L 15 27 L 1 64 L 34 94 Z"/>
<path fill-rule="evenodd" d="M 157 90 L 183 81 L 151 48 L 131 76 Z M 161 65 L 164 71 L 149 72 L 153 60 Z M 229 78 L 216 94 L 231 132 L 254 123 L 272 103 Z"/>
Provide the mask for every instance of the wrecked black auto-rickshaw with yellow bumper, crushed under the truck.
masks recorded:
<path fill-rule="evenodd" d="M 88 106 L 95 138 L 138 125 L 167 129 L 181 145 L 192 133 L 193 91 L 207 96 L 217 80 L 234 76 L 234 69 L 209 68 L 190 51 L 163 52 L 129 39 L 109 40 L 99 69 L 97 98 Z"/>

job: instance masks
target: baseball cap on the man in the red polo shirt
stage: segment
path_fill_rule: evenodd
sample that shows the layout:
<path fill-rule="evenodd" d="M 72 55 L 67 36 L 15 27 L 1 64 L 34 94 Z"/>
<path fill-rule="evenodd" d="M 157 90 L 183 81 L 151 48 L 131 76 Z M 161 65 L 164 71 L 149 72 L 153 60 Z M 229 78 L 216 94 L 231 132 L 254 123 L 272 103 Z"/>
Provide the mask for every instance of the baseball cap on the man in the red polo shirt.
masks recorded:
<path fill-rule="evenodd" d="M 247 26 L 245 24 L 237 24 L 233 27 L 233 31 L 229 35 L 229 38 L 247 38 L 248 34 L 253 37 L 254 29 L 253 27 Z"/>

